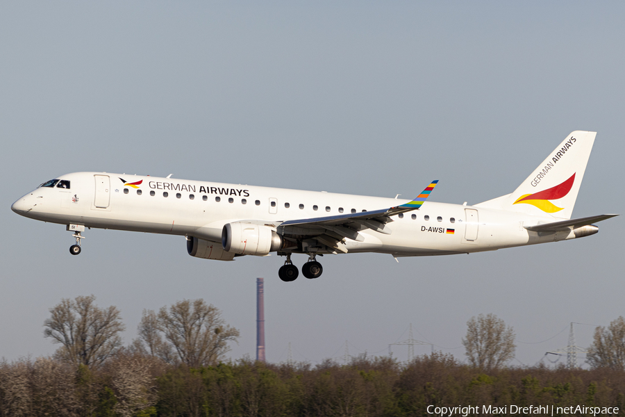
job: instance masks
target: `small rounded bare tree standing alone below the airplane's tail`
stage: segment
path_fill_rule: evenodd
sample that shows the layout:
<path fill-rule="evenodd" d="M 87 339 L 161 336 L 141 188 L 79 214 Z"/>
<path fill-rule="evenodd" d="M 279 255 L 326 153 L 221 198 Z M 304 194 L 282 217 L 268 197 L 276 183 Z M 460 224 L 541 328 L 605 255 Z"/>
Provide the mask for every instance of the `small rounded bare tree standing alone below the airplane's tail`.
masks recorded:
<path fill-rule="evenodd" d="M 515 357 L 515 332 L 493 313 L 480 314 L 467 322 L 467 337 L 462 338 L 469 363 L 477 368 L 497 369 Z"/>

